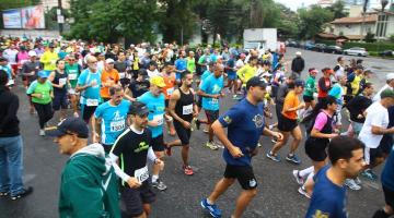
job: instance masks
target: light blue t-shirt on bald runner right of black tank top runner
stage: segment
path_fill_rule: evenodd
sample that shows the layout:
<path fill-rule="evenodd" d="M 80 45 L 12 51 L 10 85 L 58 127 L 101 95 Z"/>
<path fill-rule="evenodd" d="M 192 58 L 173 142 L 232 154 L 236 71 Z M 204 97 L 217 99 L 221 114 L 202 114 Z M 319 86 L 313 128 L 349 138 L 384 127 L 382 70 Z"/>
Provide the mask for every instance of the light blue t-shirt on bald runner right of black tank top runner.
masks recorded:
<path fill-rule="evenodd" d="M 223 76 L 217 78 L 213 74 L 211 74 L 204 80 L 200 85 L 200 89 L 206 94 L 216 95 L 220 94 L 223 86 Z M 219 110 L 219 99 L 202 97 L 202 108 L 205 110 Z"/>

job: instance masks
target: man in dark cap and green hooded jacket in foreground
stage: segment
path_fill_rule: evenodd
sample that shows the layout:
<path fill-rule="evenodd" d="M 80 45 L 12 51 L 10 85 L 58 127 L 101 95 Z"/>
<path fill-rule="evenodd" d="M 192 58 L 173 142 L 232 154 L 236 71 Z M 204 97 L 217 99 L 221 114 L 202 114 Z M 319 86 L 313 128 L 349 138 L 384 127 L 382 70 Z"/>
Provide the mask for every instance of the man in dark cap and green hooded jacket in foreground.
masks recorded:
<path fill-rule="evenodd" d="M 59 217 L 120 218 L 114 168 L 100 144 L 88 145 L 86 123 L 68 118 L 47 134 L 70 156 L 61 174 Z"/>

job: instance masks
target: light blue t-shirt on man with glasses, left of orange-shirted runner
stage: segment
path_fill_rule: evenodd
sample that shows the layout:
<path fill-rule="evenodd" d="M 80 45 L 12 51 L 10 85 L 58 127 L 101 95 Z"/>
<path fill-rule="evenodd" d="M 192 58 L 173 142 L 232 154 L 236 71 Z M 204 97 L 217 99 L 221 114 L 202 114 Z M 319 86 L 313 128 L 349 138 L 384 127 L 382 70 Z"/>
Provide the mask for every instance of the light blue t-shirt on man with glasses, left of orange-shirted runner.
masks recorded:
<path fill-rule="evenodd" d="M 93 100 L 101 101 L 100 97 L 100 87 L 101 87 L 101 72 L 91 73 L 89 69 L 82 71 L 81 75 L 78 77 L 78 85 L 84 86 L 91 84 L 93 81 L 96 82 L 95 86 L 89 87 L 81 93 L 81 104 L 90 105 L 90 99 L 92 99 L 92 106 L 95 104 Z"/>

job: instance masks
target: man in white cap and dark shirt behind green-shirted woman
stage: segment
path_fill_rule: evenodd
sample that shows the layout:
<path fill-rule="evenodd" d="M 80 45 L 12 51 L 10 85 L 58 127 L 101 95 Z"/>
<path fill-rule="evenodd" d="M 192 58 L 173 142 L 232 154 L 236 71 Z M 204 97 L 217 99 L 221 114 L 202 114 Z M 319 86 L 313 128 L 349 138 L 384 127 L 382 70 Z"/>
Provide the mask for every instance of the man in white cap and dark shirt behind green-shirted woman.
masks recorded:
<path fill-rule="evenodd" d="M 37 53 L 34 50 L 28 51 L 30 60 L 24 62 L 22 65 L 22 80 L 23 85 L 27 89 L 30 84 L 37 80 L 37 73 L 42 69 L 42 64 L 37 61 Z M 32 102 L 32 98 L 28 97 L 30 101 L 30 112 L 34 113 L 34 106 Z"/>

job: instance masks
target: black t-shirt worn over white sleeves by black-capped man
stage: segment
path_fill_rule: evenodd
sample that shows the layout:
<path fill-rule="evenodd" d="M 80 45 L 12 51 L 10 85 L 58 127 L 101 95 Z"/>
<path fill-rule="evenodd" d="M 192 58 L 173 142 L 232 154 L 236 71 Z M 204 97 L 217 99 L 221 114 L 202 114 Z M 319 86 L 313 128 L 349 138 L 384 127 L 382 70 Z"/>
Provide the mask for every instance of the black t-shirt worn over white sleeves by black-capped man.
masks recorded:
<path fill-rule="evenodd" d="M 135 177 L 136 170 L 147 166 L 151 140 L 150 130 L 146 129 L 142 134 L 138 134 L 128 128 L 115 142 L 113 154 L 119 157 L 119 166 L 126 174 Z"/>

